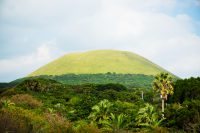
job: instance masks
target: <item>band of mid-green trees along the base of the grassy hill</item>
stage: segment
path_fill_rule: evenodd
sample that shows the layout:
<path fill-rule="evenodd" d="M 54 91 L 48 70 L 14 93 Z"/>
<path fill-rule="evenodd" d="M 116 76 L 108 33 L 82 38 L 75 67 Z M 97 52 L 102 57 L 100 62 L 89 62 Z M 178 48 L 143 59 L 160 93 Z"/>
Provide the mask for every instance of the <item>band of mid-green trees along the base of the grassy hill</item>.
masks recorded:
<path fill-rule="evenodd" d="M 68 85 L 81 85 L 81 84 L 108 84 L 118 83 L 129 88 L 151 88 L 151 83 L 154 79 L 153 76 L 143 74 L 116 74 L 108 72 L 106 74 L 64 74 L 59 76 L 41 75 L 36 77 L 26 77 L 15 80 L 10 84 L 17 84 L 29 78 L 45 78 L 56 80 L 63 84 Z"/>

